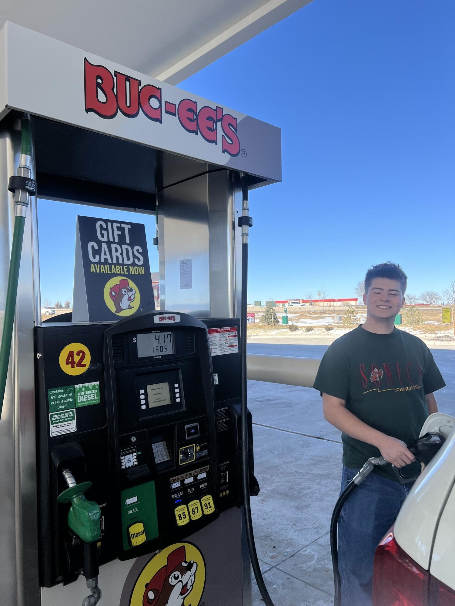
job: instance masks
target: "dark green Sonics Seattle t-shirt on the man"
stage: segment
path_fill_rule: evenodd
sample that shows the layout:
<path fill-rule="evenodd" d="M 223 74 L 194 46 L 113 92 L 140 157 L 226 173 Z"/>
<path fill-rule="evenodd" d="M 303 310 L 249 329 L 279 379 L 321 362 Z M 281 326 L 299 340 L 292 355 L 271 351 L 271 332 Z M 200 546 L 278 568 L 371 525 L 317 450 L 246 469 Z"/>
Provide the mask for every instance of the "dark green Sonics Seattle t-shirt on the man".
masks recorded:
<path fill-rule="evenodd" d="M 370 427 L 411 444 L 428 416 L 425 395 L 445 386 L 431 351 L 414 335 L 394 328 L 377 335 L 360 325 L 324 354 L 314 388 L 345 400 Z M 378 448 L 342 434 L 343 465 L 362 467 Z M 390 465 L 377 471 L 396 479 Z"/>

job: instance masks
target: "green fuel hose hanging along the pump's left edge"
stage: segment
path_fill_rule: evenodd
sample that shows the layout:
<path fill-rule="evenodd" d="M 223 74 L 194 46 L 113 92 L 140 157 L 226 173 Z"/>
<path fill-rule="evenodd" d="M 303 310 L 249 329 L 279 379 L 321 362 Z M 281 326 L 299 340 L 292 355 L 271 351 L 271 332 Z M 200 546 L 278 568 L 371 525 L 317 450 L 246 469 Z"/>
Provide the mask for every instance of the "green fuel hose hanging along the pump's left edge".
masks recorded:
<path fill-rule="evenodd" d="M 32 137 L 30 133 L 30 120 L 21 120 L 21 154 L 30 156 Z M 16 207 L 17 208 L 17 207 Z M 10 270 L 8 273 L 8 286 L 5 301 L 5 316 L 3 321 L 2 344 L 0 346 L 0 419 L 2 415 L 3 400 L 5 396 L 6 379 L 10 363 L 11 340 L 13 336 L 14 316 L 16 311 L 16 296 L 18 293 L 19 268 L 21 267 L 22 241 L 24 239 L 25 213 L 16 213 L 13 231 L 13 244 L 11 248 Z"/>

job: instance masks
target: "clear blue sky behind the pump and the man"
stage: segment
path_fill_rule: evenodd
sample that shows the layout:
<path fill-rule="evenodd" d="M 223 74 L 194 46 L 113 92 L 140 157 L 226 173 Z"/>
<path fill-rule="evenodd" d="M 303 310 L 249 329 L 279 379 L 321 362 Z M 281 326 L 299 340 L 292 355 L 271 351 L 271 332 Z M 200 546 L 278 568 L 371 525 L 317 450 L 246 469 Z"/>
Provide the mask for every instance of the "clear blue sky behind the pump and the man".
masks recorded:
<path fill-rule="evenodd" d="M 417 295 L 455 279 L 454 22 L 453 0 L 314 0 L 181 82 L 281 128 L 283 181 L 250 195 L 249 300 L 354 296 L 387 260 Z M 70 273 L 43 270 L 42 297 L 71 298 Z"/>

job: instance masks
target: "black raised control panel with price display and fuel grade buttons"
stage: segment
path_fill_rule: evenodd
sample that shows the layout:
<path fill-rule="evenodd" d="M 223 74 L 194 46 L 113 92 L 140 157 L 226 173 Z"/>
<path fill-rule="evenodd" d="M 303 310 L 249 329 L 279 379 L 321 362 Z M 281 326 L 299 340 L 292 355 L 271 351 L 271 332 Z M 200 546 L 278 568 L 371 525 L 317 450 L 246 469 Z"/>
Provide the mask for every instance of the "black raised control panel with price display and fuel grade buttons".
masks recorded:
<path fill-rule="evenodd" d="M 207 327 L 156 311 L 104 335 L 118 558 L 179 541 L 218 516 L 214 387 Z"/>

